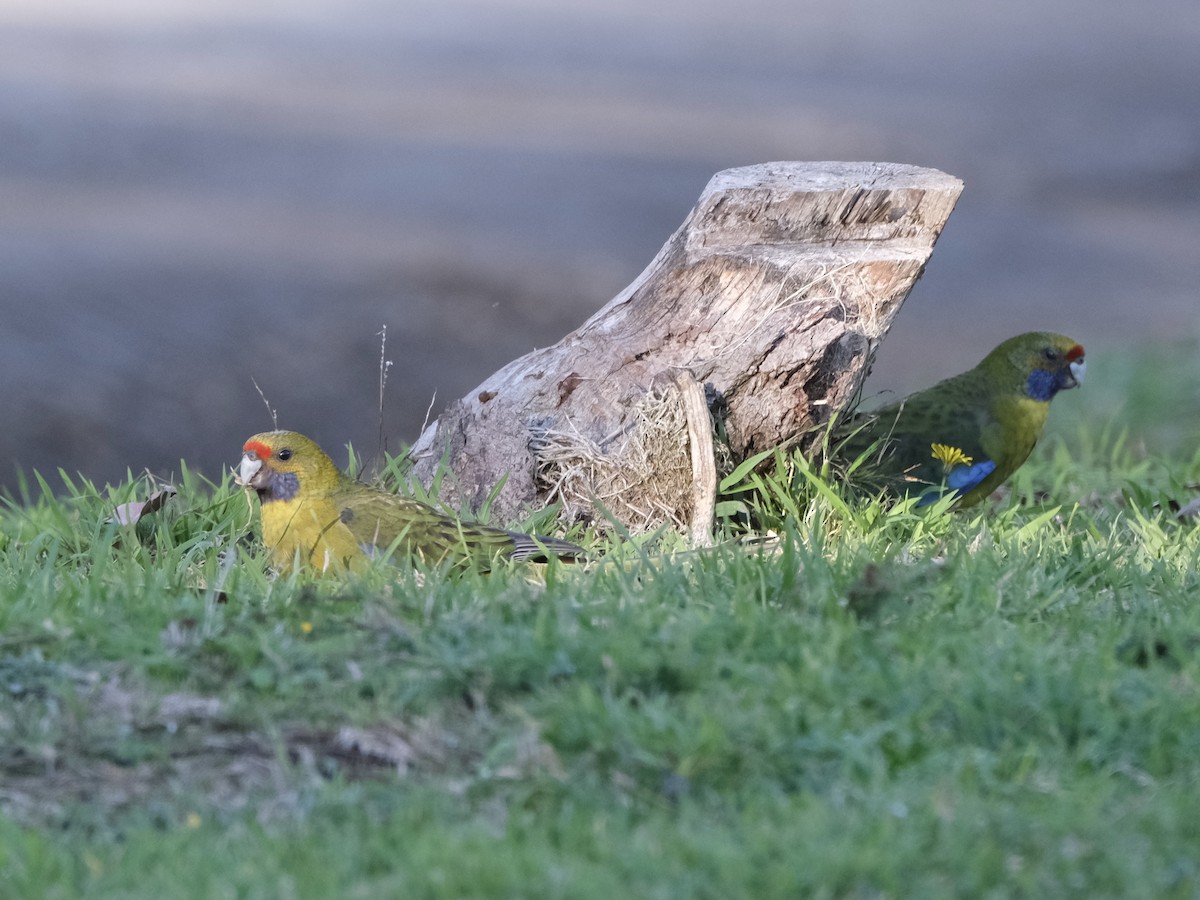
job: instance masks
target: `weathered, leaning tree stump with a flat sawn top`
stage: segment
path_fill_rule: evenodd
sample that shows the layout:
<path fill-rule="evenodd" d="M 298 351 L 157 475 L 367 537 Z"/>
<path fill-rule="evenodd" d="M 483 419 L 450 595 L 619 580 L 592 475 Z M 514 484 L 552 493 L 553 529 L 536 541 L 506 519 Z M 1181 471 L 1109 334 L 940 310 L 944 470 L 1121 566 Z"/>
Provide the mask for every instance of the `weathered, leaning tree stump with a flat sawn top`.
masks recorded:
<path fill-rule="evenodd" d="M 425 430 L 416 476 L 445 460 L 444 492 L 473 506 L 503 479 L 497 521 L 560 502 L 602 522 L 598 502 L 635 530 L 695 530 L 710 492 L 694 484 L 678 374 L 704 388 L 720 468 L 794 443 L 856 397 L 961 190 L 894 163 L 718 173 L 632 284 Z"/>

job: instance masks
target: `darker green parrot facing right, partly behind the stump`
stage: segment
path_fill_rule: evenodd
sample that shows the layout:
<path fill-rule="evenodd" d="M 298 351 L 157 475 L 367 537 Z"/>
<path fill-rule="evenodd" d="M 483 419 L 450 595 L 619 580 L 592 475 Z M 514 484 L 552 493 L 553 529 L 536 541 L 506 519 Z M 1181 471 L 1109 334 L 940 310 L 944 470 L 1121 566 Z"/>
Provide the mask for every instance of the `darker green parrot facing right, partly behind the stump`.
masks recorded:
<path fill-rule="evenodd" d="M 970 372 L 853 416 L 833 452 L 850 480 L 918 505 L 946 493 L 956 506 L 988 497 L 1028 458 L 1050 401 L 1084 380 L 1081 344 L 1048 331 L 1004 341 Z"/>

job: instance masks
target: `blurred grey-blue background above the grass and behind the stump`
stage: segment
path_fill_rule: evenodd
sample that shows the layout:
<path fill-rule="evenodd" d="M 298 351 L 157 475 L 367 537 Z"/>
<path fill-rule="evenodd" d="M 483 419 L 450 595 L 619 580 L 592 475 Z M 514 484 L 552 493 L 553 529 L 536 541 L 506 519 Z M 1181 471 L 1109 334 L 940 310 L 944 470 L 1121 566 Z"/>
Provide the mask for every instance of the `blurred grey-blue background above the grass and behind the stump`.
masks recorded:
<path fill-rule="evenodd" d="M 1194 0 L 0 0 L 0 485 L 391 449 L 719 169 L 966 182 L 869 390 L 1200 335 Z M 434 398 L 436 397 L 436 398 Z"/>

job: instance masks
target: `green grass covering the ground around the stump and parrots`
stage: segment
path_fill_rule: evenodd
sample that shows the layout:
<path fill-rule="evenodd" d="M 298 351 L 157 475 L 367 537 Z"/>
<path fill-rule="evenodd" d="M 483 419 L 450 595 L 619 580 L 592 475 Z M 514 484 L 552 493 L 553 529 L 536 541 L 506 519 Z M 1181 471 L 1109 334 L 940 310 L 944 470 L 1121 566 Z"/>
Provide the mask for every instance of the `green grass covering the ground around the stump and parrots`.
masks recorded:
<path fill-rule="evenodd" d="M 792 468 L 778 545 L 542 582 L 272 580 L 228 481 L 126 527 L 144 479 L 35 480 L 0 896 L 1195 896 L 1200 379 L 1163 358 L 1058 400 L 985 509 Z"/>

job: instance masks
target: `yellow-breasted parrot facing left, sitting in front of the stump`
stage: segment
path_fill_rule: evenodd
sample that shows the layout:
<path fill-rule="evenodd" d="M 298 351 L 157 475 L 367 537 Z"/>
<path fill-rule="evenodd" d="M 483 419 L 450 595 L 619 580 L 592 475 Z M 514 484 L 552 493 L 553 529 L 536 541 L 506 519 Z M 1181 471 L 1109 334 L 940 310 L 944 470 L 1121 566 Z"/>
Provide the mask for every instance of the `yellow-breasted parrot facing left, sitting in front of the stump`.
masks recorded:
<path fill-rule="evenodd" d="M 460 522 L 412 497 L 355 481 L 294 431 L 250 438 L 238 480 L 258 494 L 263 544 L 283 571 L 296 563 L 319 572 L 358 570 L 389 548 L 481 571 L 498 558 L 547 562 L 583 556 L 581 547 L 557 538 Z"/>

